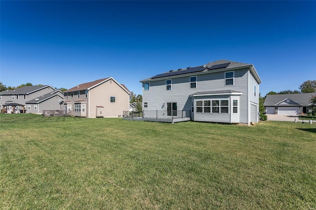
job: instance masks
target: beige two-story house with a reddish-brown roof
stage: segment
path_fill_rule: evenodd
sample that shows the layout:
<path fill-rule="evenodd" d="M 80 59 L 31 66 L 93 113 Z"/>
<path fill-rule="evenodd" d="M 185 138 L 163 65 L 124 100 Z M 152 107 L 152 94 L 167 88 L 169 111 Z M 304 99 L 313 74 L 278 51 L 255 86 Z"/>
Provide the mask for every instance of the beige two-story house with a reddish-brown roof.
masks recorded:
<path fill-rule="evenodd" d="M 129 110 L 130 91 L 108 77 L 79 84 L 64 92 L 64 110 L 77 117 L 120 117 Z"/>

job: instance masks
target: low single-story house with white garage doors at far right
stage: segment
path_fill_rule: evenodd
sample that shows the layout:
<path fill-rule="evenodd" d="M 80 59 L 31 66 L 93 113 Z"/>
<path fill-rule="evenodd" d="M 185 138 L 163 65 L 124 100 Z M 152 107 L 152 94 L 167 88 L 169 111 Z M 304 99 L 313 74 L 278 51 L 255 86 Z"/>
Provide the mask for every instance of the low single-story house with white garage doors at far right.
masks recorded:
<path fill-rule="evenodd" d="M 309 111 L 310 99 L 315 95 L 316 93 L 267 95 L 263 105 L 266 114 L 298 115 Z"/>

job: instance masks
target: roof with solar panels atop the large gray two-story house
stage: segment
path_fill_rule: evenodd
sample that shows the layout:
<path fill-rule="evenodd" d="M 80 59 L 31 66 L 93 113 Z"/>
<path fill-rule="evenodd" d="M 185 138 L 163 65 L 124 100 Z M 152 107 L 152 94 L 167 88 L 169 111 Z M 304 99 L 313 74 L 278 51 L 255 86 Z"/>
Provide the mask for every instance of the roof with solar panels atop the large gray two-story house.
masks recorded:
<path fill-rule="evenodd" d="M 258 81 L 258 83 L 259 84 L 261 83 L 261 79 L 252 64 L 239 63 L 239 62 L 229 61 L 229 60 L 213 61 L 213 62 L 204 64 L 202 66 L 193 67 L 193 68 L 188 67 L 186 69 L 170 70 L 170 71 L 149 77 L 147 79 L 143 79 L 140 82 L 151 81 L 151 80 L 161 80 L 161 79 L 166 79 L 168 77 L 181 77 L 181 76 L 187 76 L 187 75 L 192 75 L 192 74 L 196 75 L 196 74 L 203 74 L 203 73 L 209 73 L 209 72 L 227 71 L 227 70 L 235 70 L 235 69 L 242 69 L 242 68 L 249 68 L 250 71 L 253 73 L 254 77 L 256 78 L 256 80 Z"/>

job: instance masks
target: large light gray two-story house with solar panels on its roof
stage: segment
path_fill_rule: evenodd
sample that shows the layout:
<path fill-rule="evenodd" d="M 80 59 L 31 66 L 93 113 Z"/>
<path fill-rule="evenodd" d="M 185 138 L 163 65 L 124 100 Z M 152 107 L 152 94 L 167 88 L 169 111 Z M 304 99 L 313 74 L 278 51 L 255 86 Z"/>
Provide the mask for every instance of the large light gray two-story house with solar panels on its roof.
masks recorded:
<path fill-rule="evenodd" d="M 248 125 L 259 120 L 261 79 L 252 64 L 219 60 L 140 82 L 144 120 L 179 115 L 185 115 L 184 120 Z"/>

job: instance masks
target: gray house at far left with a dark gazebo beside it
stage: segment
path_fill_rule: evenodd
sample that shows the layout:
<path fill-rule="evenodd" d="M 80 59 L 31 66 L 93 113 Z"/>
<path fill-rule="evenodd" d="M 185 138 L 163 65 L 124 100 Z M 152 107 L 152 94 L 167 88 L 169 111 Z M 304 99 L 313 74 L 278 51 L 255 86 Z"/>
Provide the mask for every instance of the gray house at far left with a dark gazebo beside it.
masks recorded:
<path fill-rule="evenodd" d="M 63 98 L 63 93 L 50 85 L 24 86 L 0 92 L 0 108 L 5 106 L 11 109 L 6 104 L 14 103 L 23 105 L 26 113 L 41 114 L 43 110 L 62 110 L 60 102 Z M 16 106 L 15 109 L 23 111 L 22 106 Z"/>

